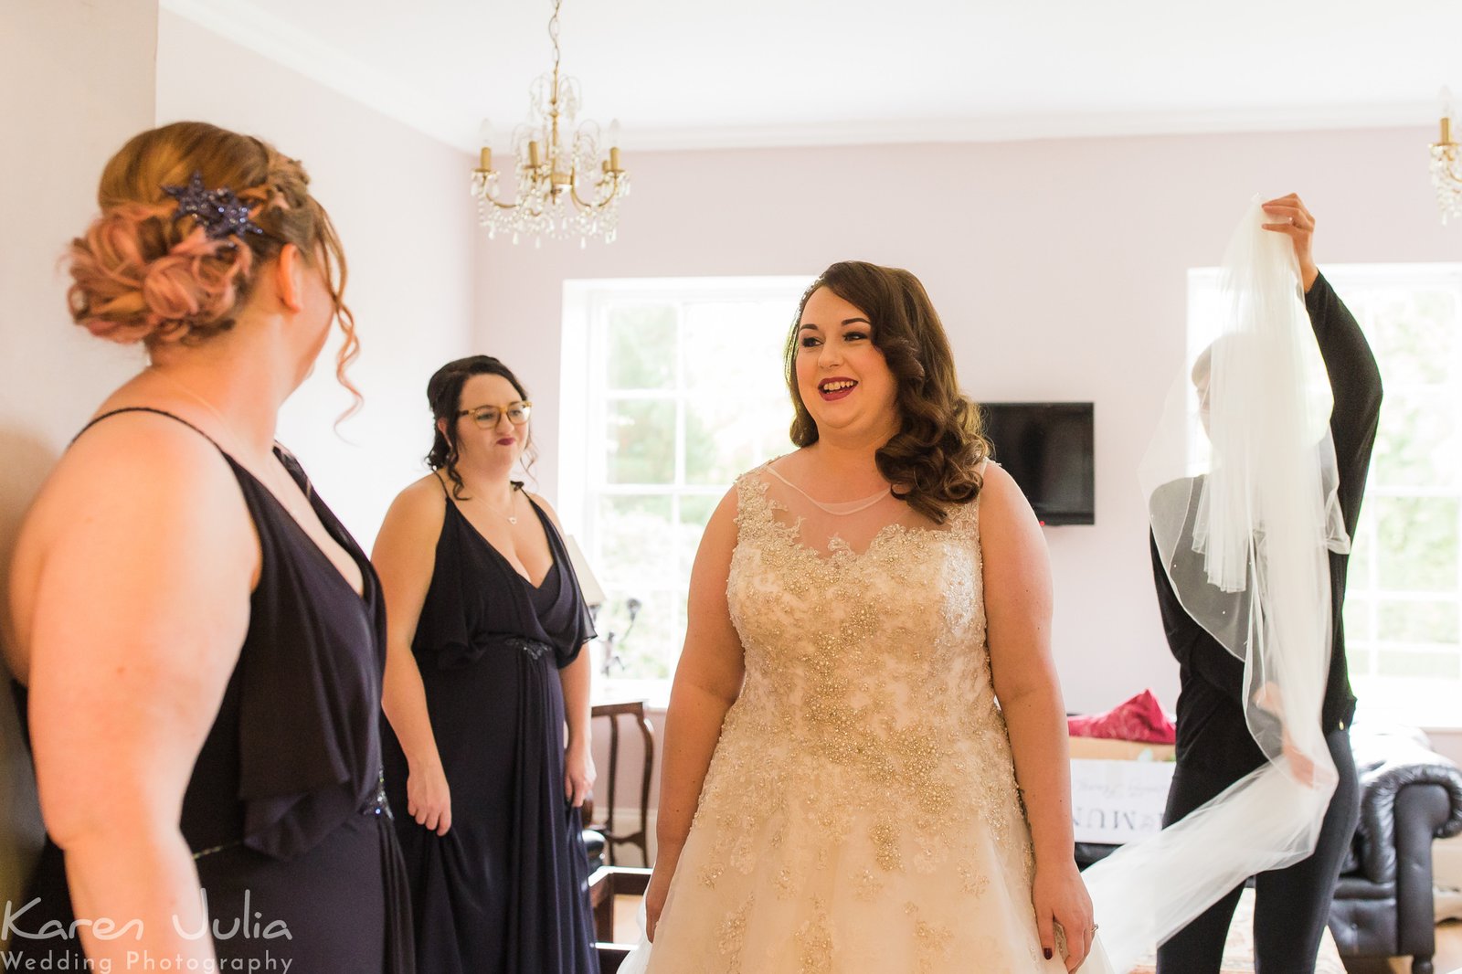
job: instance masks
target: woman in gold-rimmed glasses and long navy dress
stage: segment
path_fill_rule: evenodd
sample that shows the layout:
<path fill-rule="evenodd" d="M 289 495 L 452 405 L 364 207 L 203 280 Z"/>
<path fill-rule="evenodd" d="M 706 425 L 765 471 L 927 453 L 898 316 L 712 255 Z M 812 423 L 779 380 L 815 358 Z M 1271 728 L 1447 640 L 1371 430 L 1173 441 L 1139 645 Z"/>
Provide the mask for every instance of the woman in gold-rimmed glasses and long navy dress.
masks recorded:
<path fill-rule="evenodd" d="M 427 399 L 431 472 L 392 503 L 373 554 L 417 965 L 596 974 L 579 812 L 594 626 L 554 513 L 512 478 L 532 404 L 490 355 L 439 369 Z"/>

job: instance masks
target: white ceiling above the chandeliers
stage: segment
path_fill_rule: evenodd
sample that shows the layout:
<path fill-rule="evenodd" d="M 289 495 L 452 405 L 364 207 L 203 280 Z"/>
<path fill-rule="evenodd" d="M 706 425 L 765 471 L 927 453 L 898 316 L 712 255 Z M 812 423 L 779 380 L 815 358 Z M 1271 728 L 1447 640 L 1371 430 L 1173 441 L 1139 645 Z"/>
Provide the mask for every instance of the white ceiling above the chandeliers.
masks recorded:
<path fill-rule="evenodd" d="M 526 117 L 550 0 L 162 0 L 462 148 Z M 563 0 L 627 151 L 1430 124 L 1462 0 Z"/>

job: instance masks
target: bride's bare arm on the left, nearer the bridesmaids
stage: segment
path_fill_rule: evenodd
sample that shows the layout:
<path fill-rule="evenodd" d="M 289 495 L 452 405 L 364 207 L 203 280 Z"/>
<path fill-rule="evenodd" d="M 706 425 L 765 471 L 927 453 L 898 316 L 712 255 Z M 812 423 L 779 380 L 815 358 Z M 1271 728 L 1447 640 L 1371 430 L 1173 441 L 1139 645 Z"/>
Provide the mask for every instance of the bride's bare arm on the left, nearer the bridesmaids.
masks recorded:
<path fill-rule="evenodd" d="M 655 873 L 645 892 L 648 933 L 655 936 L 665 892 L 700 801 L 721 722 L 741 692 L 741 639 L 731 624 L 727 578 L 735 548 L 735 488 L 716 506 L 690 569 L 686 646 L 675 667 L 665 715 L 665 758 L 659 771 Z"/>

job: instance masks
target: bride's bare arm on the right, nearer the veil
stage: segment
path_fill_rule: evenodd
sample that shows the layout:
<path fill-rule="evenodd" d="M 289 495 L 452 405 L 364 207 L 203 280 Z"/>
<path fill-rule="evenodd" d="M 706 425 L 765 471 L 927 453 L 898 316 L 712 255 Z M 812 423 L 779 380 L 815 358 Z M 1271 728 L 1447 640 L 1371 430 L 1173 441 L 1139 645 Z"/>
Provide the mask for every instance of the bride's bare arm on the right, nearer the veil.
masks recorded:
<path fill-rule="evenodd" d="M 1073 857 L 1066 709 L 1051 660 L 1051 566 L 1031 505 L 993 464 L 980 493 L 980 537 L 990 670 L 1035 847 L 1037 927 L 1051 956 L 1053 923 L 1061 924 L 1066 968 L 1075 971 L 1091 948 L 1092 904 Z"/>

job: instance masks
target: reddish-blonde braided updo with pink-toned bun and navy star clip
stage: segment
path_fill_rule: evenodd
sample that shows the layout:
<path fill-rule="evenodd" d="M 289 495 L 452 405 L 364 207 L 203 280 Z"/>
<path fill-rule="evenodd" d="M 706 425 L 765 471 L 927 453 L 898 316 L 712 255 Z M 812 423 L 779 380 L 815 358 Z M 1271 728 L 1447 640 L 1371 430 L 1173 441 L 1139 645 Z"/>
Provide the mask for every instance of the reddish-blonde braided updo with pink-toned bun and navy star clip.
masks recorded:
<path fill-rule="evenodd" d="M 178 218 L 183 187 L 199 174 L 208 190 L 231 190 L 260 233 L 209 237 Z M 310 177 L 272 145 L 203 121 L 177 121 L 135 136 L 107 162 L 96 192 L 101 215 L 72 241 L 72 317 L 114 342 L 194 344 L 228 331 L 257 269 L 285 244 L 325 276 L 345 332 L 336 374 L 360 344 L 345 307 L 345 253 L 329 215 L 310 196 Z"/>

